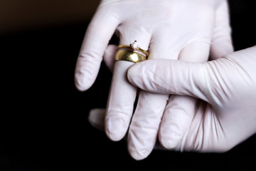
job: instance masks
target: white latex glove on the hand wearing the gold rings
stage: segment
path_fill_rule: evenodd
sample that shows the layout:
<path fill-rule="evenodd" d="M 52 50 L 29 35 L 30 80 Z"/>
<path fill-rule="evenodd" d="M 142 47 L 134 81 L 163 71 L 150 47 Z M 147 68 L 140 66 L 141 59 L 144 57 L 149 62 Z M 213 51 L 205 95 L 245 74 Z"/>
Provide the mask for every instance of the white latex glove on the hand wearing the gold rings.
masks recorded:
<path fill-rule="evenodd" d="M 79 90 L 87 90 L 95 81 L 114 31 L 122 45 L 137 41 L 145 50 L 149 48 L 149 59 L 204 62 L 209 51 L 212 58 L 233 51 L 225 0 L 105 0 L 87 28 L 82 44 L 75 70 Z M 108 66 L 112 65 L 114 52 L 111 46 L 107 48 Z M 163 145 L 176 146 L 186 133 L 183 125 L 188 125 L 196 99 L 177 95 L 169 99 L 169 95 L 142 90 L 132 117 L 137 88 L 127 81 L 127 68 L 133 64 L 117 61 L 114 65 L 105 131 L 110 139 L 120 140 L 129 128 L 128 149 L 132 157 L 139 160 L 153 149 L 163 113 L 166 120 L 187 117 L 178 127 L 165 125 L 171 126 L 173 133 L 166 134 Z"/>

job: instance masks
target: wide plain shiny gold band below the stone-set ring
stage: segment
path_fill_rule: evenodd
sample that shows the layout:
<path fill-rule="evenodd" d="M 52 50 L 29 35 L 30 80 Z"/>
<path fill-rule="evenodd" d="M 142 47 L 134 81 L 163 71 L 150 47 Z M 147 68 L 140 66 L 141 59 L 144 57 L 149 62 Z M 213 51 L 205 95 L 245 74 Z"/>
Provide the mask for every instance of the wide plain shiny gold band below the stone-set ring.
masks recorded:
<path fill-rule="evenodd" d="M 141 61 L 146 60 L 146 56 L 142 55 L 141 53 L 137 53 L 134 51 L 127 51 L 127 50 L 117 50 L 115 54 L 116 61 L 130 61 L 133 63 L 138 63 Z"/>

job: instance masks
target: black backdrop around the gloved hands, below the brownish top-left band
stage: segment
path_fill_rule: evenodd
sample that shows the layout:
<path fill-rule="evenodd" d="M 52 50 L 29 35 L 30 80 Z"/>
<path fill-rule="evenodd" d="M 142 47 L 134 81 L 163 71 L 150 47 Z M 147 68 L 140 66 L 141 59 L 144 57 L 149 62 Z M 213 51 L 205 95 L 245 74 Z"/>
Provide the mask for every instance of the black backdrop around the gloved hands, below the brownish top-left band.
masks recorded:
<path fill-rule="evenodd" d="M 236 51 L 256 44 L 254 10 L 253 1 L 230 1 Z M 135 161 L 124 140 L 92 128 L 88 112 L 105 108 L 112 73 L 102 63 L 90 90 L 75 89 L 88 23 L 1 34 L 0 170 L 256 168 L 255 135 L 221 154 L 154 150 Z"/>

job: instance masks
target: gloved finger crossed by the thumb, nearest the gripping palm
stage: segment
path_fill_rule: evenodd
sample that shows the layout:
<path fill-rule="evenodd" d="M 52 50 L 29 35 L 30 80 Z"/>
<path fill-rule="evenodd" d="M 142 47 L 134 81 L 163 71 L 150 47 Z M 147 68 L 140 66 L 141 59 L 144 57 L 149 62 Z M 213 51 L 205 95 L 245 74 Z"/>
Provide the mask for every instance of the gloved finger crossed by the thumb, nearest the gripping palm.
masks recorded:
<path fill-rule="evenodd" d="M 210 45 L 197 41 L 181 51 L 179 60 L 202 63 L 207 61 Z M 167 149 L 172 149 L 181 142 L 193 118 L 196 98 L 186 95 L 171 95 L 159 129 L 159 142 Z"/>

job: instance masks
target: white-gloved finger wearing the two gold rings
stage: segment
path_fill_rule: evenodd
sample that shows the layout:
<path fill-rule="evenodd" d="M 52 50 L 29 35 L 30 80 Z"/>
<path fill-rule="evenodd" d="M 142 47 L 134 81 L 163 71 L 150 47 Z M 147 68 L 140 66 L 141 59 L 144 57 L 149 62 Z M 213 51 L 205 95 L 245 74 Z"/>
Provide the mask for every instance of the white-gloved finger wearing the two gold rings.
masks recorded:
<path fill-rule="evenodd" d="M 129 45 L 137 41 L 144 50 L 147 50 L 150 36 L 141 31 L 135 31 L 130 35 L 130 32 L 126 32 L 127 27 L 119 29 L 122 30 L 120 44 Z M 134 101 L 137 95 L 137 88 L 127 81 L 127 69 L 132 65 L 134 63 L 129 61 L 116 61 L 114 63 L 105 118 L 105 131 L 111 140 L 121 140 L 124 137 L 132 118 Z"/>

